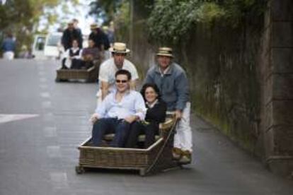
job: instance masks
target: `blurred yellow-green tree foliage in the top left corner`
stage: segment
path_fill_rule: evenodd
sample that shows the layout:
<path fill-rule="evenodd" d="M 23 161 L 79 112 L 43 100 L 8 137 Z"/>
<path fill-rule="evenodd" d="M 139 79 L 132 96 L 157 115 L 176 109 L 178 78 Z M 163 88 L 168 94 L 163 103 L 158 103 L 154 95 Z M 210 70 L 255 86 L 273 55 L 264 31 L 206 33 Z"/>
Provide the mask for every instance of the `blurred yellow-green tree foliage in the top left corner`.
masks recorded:
<path fill-rule="evenodd" d="M 5 32 L 16 36 L 18 49 L 22 45 L 28 47 L 33 41 L 33 33 L 38 29 L 41 17 L 47 24 L 57 21 L 54 8 L 66 0 L 7 0 L 0 5 L 0 42 Z M 78 0 L 74 0 L 75 3 Z"/>

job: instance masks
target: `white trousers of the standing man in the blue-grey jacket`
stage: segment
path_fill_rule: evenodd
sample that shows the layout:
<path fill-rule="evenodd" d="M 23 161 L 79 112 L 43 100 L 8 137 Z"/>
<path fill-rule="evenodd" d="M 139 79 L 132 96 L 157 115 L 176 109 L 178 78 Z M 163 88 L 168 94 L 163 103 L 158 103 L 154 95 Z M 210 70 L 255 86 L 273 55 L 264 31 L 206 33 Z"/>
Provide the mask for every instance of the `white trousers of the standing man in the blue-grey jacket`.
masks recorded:
<path fill-rule="evenodd" d="M 190 152 L 193 151 L 193 132 L 190 127 L 190 102 L 186 103 L 182 118 L 177 124 L 174 147 L 181 150 L 189 150 Z"/>

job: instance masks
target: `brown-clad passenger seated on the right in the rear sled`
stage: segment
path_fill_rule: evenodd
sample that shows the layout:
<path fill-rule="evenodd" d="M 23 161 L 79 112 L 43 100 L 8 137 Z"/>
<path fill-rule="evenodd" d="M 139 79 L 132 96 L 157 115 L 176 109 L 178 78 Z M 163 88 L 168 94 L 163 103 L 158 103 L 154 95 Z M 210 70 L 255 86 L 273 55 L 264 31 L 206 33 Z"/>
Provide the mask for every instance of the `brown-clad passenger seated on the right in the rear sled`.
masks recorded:
<path fill-rule="evenodd" d="M 81 55 L 84 61 L 84 69 L 89 69 L 98 59 L 100 59 L 100 50 L 95 47 L 95 42 L 93 42 L 93 40 L 88 40 L 88 47 L 82 50 Z"/>

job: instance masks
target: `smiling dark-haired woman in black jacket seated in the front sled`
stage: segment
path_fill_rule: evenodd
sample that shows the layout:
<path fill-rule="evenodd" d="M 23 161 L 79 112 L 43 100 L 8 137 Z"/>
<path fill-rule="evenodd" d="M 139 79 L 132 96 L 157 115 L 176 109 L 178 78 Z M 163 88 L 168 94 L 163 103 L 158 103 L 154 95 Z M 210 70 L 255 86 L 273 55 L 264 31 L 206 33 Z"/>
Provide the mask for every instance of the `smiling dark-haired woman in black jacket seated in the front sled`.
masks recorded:
<path fill-rule="evenodd" d="M 146 102 L 146 117 L 144 122 L 134 122 L 127 138 L 126 148 L 135 148 L 137 138 L 145 134 L 144 148 L 149 148 L 155 141 L 155 135 L 159 134 L 159 123 L 165 122 L 167 105 L 160 98 L 159 88 L 156 84 L 146 83 L 141 90 Z"/>

